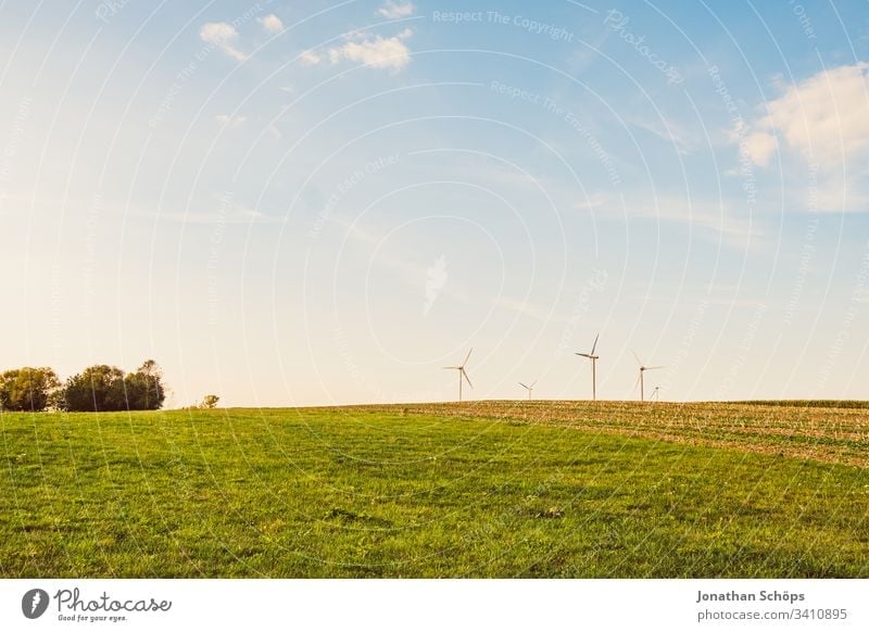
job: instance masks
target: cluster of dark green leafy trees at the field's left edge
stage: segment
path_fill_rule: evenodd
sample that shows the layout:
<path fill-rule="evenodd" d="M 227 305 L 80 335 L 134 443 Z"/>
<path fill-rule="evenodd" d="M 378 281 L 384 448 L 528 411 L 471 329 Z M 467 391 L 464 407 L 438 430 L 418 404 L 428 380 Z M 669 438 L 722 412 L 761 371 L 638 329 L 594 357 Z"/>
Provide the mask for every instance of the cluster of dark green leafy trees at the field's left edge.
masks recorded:
<path fill-rule="evenodd" d="M 90 366 L 65 382 L 49 367 L 0 374 L 0 410 L 156 410 L 165 399 L 163 371 L 152 359 L 130 374 L 104 364 Z"/>

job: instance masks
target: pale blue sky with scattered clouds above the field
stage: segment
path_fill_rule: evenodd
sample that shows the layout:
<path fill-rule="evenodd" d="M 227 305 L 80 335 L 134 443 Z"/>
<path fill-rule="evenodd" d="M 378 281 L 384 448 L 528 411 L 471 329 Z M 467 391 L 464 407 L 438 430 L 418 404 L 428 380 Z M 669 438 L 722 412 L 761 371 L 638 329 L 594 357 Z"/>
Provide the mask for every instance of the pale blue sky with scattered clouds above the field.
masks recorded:
<path fill-rule="evenodd" d="M 0 2 L 0 368 L 867 399 L 869 5 Z"/>

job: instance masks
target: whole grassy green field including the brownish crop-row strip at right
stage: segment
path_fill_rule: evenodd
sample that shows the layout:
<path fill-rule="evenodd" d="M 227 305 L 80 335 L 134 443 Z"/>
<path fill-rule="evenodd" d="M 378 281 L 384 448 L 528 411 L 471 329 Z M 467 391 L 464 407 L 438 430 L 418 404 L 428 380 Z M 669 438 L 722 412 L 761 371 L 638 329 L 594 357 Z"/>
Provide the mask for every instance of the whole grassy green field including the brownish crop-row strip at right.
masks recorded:
<path fill-rule="evenodd" d="M 0 576 L 869 577 L 869 409 L 0 415 Z"/>

